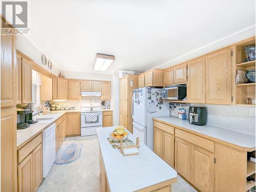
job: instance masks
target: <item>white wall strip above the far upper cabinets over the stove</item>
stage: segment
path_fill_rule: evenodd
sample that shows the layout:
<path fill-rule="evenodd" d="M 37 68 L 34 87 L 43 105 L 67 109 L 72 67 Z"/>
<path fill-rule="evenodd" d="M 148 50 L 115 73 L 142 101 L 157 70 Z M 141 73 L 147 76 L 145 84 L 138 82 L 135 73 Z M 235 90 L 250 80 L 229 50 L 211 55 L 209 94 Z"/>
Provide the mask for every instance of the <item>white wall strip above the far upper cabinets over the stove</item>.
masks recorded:
<path fill-rule="evenodd" d="M 63 71 L 66 78 L 72 79 L 90 79 L 90 80 L 105 80 L 111 81 L 112 75 L 110 74 L 103 74 L 103 73 L 86 73 L 86 72 L 76 72 L 76 71 Z"/>

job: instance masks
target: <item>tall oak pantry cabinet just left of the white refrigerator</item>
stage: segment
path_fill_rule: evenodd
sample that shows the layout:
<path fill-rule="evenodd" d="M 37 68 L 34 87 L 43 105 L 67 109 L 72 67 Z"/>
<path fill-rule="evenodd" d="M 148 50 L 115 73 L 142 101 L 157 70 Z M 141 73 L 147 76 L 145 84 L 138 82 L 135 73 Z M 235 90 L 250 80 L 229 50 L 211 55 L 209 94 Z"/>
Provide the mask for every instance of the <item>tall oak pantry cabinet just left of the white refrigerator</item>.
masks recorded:
<path fill-rule="evenodd" d="M 119 80 L 119 124 L 133 133 L 132 97 L 138 88 L 138 76 L 126 75 Z"/>

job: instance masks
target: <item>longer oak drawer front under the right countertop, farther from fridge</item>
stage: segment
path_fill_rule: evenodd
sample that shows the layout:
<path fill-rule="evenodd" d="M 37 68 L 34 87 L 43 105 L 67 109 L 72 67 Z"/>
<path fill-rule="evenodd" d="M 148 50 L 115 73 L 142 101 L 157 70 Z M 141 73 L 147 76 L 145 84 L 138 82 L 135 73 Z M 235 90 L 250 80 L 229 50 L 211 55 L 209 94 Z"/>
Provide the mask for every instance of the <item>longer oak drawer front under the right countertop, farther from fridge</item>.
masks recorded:
<path fill-rule="evenodd" d="M 190 143 L 193 143 L 197 146 L 200 146 L 202 148 L 204 148 L 205 150 L 208 150 L 209 152 L 214 153 L 214 142 L 204 139 L 202 137 L 181 131 L 179 129 L 175 130 L 175 136 L 179 137 L 181 139 L 184 139 Z"/>

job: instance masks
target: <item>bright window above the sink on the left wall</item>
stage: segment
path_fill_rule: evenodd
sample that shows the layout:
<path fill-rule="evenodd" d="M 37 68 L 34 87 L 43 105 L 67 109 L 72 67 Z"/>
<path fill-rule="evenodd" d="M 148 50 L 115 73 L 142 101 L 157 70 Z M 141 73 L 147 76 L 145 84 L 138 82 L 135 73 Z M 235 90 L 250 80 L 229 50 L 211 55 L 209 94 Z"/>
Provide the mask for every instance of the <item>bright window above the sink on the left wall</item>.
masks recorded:
<path fill-rule="evenodd" d="M 36 71 L 32 70 L 32 102 L 34 108 L 40 108 L 40 86 L 41 86 L 41 75 Z"/>

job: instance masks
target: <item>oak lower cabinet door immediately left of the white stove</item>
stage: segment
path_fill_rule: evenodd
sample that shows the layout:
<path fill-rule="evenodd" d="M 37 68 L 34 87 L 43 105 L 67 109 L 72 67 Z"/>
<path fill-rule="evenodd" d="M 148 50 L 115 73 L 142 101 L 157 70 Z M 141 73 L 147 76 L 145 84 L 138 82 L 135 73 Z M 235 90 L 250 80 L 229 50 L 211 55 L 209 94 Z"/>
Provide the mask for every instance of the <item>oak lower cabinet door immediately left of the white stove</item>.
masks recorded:
<path fill-rule="evenodd" d="M 80 135 L 80 113 L 67 114 L 66 121 L 66 135 Z"/>

